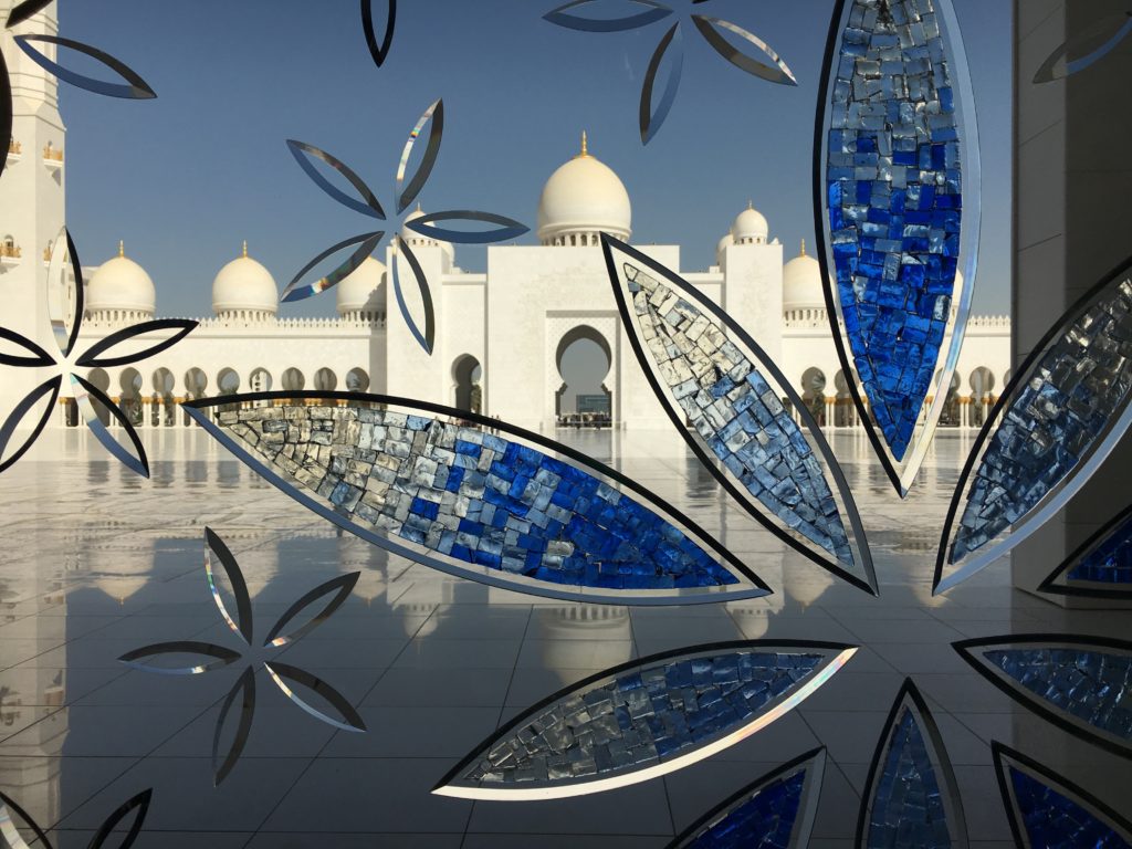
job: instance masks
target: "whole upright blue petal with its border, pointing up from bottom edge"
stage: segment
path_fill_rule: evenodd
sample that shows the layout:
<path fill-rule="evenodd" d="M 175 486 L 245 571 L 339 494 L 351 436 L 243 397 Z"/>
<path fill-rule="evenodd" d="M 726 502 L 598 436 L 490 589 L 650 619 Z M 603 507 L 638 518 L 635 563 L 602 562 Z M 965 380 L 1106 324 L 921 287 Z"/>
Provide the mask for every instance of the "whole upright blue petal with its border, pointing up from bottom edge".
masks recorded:
<path fill-rule="evenodd" d="M 954 772 L 935 720 L 904 681 L 868 774 L 857 846 L 864 849 L 960 849 L 967 829 Z"/>

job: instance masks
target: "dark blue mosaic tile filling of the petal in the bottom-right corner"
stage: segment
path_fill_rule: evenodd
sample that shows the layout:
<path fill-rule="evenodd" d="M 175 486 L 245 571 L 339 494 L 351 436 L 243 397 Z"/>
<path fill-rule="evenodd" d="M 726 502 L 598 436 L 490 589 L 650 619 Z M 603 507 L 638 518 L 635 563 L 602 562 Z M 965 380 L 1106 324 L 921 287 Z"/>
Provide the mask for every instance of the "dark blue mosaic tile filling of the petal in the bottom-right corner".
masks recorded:
<path fill-rule="evenodd" d="M 1032 775 L 1007 766 L 1030 846 L 1045 849 L 1126 849 L 1129 843 L 1078 803 Z"/>

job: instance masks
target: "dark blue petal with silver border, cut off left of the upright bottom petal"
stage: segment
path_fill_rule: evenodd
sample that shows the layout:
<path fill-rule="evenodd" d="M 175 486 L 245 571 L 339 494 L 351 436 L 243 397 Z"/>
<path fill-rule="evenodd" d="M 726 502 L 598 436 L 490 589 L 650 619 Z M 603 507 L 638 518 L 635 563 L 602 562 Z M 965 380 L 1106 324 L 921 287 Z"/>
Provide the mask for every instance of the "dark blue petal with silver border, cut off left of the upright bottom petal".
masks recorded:
<path fill-rule="evenodd" d="M 688 826 L 669 849 L 796 849 L 809 844 L 825 749 L 763 775 Z"/>

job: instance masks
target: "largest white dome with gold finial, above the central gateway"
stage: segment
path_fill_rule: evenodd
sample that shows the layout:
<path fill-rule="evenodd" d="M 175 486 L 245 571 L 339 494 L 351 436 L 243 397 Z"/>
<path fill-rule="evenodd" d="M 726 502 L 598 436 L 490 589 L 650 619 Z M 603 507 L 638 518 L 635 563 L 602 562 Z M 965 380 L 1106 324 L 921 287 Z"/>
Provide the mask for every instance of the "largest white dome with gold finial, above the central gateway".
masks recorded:
<path fill-rule="evenodd" d="M 628 240 L 633 232 L 629 194 L 617 174 L 582 152 L 555 171 L 539 199 L 539 240 L 543 245 L 597 245 L 602 231 Z"/>

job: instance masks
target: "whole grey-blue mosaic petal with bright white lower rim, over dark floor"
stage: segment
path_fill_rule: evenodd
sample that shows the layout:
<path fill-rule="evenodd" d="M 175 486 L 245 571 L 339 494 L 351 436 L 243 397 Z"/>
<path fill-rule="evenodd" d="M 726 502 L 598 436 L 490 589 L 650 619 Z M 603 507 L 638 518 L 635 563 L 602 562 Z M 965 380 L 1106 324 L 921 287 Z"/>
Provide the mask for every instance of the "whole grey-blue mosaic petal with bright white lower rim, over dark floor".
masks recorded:
<path fill-rule="evenodd" d="M 833 643 L 752 641 L 624 663 L 523 712 L 432 792 L 552 799 L 675 772 L 784 715 L 856 651 Z"/>

